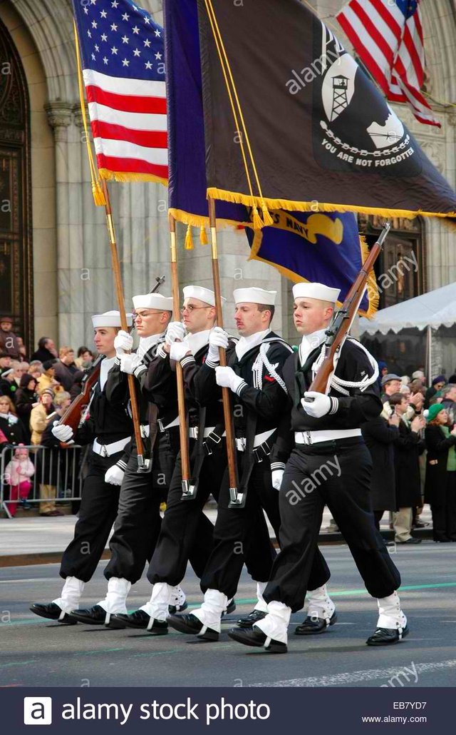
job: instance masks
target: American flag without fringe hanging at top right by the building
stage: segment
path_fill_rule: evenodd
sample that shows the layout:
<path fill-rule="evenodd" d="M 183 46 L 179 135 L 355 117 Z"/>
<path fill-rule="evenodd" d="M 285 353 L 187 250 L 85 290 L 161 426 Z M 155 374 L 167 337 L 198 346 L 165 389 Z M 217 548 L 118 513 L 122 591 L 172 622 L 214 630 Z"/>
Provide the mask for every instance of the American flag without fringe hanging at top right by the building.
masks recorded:
<path fill-rule="evenodd" d="M 336 18 L 386 97 L 408 103 L 420 123 L 440 127 L 420 91 L 424 42 L 419 0 L 350 0 Z"/>

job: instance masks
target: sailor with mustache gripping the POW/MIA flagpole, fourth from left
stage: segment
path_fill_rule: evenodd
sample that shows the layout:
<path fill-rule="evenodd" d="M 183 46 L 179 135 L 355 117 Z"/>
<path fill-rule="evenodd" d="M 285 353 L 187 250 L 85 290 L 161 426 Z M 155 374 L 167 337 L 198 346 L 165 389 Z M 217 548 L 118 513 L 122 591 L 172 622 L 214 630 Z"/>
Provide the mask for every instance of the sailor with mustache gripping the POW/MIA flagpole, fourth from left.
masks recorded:
<path fill-rule="evenodd" d="M 282 367 L 292 348 L 270 329 L 275 295 L 275 291 L 261 288 L 235 290 L 235 319 L 241 338 L 228 358 L 229 366 L 223 368 L 217 366 L 217 362 L 206 360 L 199 371 L 200 395 L 209 395 L 215 383 L 229 387 L 234 393 L 239 489 L 246 493 L 244 507 L 228 507 L 229 478 L 228 471 L 225 471 L 214 528 L 214 550 L 201 578 L 203 605 L 194 614 L 173 615 L 168 619 L 176 630 L 196 634 L 206 640 L 219 637 L 223 611 L 236 592 L 242 565 L 256 542 L 253 529 L 258 523 L 258 512 L 262 513 L 264 509 L 277 537 L 281 523 L 269 454 L 283 407 L 287 406 Z M 228 348 L 226 333 L 224 342 L 220 340 L 219 345 Z M 242 619 L 242 625 L 250 627 L 266 614 L 262 593 L 274 556 L 275 553 L 262 554 L 261 568 L 253 574 L 257 582 L 258 603 L 253 612 Z M 325 560 L 317 551 L 312 589 L 323 587 L 328 578 Z"/>

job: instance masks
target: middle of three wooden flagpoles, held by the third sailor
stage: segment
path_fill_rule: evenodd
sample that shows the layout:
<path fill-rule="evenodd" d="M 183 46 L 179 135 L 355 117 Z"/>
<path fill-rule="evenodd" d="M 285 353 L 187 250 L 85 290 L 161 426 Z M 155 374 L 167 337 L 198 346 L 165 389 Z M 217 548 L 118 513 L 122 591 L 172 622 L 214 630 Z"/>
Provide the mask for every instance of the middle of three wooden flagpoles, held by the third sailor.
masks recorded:
<path fill-rule="evenodd" d="M 180 320 L 181 299 L 179 293 L 179 277 L 177 265 L 177 241 L 175 236 L 175 218 L 168 215 L 170 227 L 171 251 L 171 293 L 173 295 L 173 319 Z M 190 486 L 189 436 L 185 412 L 184 372 L 180 362 L 175 363 L 175 376 L 178 390 L 179 434 L 181 439 L 182 498 L 192 498 L 193 488 Z"/>

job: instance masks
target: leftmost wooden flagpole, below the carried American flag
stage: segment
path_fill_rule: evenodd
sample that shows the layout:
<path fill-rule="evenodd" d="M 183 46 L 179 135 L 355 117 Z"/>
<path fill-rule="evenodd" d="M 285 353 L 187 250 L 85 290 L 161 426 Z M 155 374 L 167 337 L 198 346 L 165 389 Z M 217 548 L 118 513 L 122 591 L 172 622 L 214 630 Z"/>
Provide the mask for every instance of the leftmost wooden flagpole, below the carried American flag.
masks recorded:
<path fill-rule="evenodd" d="M 103 189 L 104 198 L 106 199 L 106 204 L 105 204 L 106 223 L 107 223 L 108 234 L 109 234 L 109 245 L 111 247 L 112 272 L 114 273 L 115 294 L 117 297 L 117 305 L 119 306 L 120 324 L 122 325 L 122 329 L 124 331 L 129 331 L 129 327 L 128 327 L 127 320 L 126 320 L 125 300 L 124 300 L 124 295 L 123 295 L 122 276 L 120 275 L 119 256 L 117 254 L 117 240 L 115 237 L 114 221 L 112 219 L 111 200 L 109 198 L 108 185 L 106 184 L 106 181 L 104 179 L 101 180 L 101 187 Z M 129 378 L 129 392 L 130 392 L 130 401 L 131 401 L 131 416 L 133 418 L 133 426 L 134 426 L 134 440 L 137 446 L 138 470 L 145 472 L 145 471 L 148 471 L 148 469 L 150 468 L 148 467 L 148 465 L 150 465 L 151 462 L 148 462 L 148 465 L 146 465 L 145 459 L 144 459 L 144 445 L 142 443 L 141 427 L 140 427 L 140 412 L 138 409 L 137 395 L 136 395 L 136 390 L 135 390 L 135 385 L 134 385 L 134 376 L 129 375 L 128 378 Z"/>

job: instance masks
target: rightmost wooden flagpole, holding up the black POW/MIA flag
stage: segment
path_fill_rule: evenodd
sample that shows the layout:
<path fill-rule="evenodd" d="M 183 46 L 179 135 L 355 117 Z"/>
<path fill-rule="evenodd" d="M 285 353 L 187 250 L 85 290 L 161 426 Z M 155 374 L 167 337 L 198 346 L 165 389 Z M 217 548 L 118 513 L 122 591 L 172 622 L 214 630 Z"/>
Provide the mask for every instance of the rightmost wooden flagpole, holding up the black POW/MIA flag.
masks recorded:
<path fill-rule="evenodd" d="M 214 280 L 215 309 L 217 314 L 217 326 L 223 327 L 222 295 L 220 293 L 219 258 L 217 251 L 217 221 L 215 218 L 215 201 L 209 197 L 209 226 L 211 228 L 211 259 L 212 278 Z M 226 351 L 220 348 L 220 366 L 226 367 Z M 243 493 L 237 490 L 236 453 L 234 451 L 234 426 L 231 415 L 230 390 L 222 388 L 223 417 L 226 431 L 226 453 L 228 456 L 228 476 L 230 480 L 230 507 L 242 507 L 244 505 Z"/>

